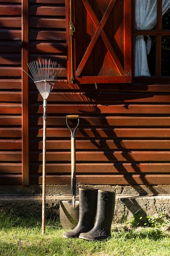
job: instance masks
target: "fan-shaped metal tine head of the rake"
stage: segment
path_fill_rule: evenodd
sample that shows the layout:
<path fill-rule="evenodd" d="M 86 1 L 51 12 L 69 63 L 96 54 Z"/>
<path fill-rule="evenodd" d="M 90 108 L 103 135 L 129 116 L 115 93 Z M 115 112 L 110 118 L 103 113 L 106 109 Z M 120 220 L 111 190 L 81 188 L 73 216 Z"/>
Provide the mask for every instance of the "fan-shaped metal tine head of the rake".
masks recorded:
<path fill-rule="evenodd" d="M 27 64 L 32 74 L 31 79 L 34 81 L 37 89 L 43 99 L 47 99 L 53 90 L 55 81 L 62 70 L 62 66 L 57 62 L 43 59 L 42 63 L 39 60 Z"/>

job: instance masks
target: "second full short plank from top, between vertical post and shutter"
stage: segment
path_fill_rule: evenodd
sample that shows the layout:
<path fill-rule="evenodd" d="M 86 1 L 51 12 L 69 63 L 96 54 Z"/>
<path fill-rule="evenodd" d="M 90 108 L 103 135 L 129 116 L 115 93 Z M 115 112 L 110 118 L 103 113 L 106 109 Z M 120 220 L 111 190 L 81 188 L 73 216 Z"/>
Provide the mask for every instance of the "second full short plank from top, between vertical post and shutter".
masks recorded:
<path fill-rule="evenodd" d="M 30 17 L 29 19 L 30 28 L 46 28 L 49 29 L 66 29 L 65 18 L 41 18 L 41 17 Z"/>

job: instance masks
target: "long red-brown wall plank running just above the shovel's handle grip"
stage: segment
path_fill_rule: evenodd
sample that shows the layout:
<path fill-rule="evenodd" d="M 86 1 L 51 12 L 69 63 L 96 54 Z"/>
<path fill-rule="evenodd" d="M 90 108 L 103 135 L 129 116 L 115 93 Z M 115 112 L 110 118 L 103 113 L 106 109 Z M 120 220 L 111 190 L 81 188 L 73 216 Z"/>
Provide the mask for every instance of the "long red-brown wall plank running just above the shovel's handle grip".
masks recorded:
<path fill-rule="evenodd" d="M 42 105 L 39 106 L 38 104 L 31 104 L 30 105 L 30 113 L 35 112 L 42 113 Z M 170 114 L 170 105 L 144 105 L 144 104 L 117 104 L 117 105 L 95 105 L 95 104 L 63 104 L 63 105 L 56 105 L 56 104 L 48 104 L 48 113 L 60 113 L 62 115 L 69 115 L 75 114 L 80 115 L 80 113 L 84 115 L 88 113 L 90 114 L 105 114 L 105 115 L 131 115 L 131 114 L 140 114 L 140 115 L 169 115 Z"/>

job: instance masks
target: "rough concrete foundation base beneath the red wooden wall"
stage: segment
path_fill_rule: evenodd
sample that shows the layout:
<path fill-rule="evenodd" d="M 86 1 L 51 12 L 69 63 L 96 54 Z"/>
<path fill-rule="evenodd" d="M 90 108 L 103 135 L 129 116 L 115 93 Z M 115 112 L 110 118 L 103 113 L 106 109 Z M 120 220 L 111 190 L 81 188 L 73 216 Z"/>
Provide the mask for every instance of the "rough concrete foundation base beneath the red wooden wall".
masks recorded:
<path fill-rule="evenodd" d="M 77 200 L 78 188 L 77 186 Z M 86 187 L 86 186 L 85 186 Z M 116 192 L 115 222 L 130 220 L 136 212 L 146 216 L 158 216 L 159 211 L 170 215 L 170 186 L 93 186 Z M 60 200 L 71 200 L 71 186 L 46 185 L 46 215 L 59 216 Z M 0 186 L 0 211 L 41 212 L 41 186 Z"/>

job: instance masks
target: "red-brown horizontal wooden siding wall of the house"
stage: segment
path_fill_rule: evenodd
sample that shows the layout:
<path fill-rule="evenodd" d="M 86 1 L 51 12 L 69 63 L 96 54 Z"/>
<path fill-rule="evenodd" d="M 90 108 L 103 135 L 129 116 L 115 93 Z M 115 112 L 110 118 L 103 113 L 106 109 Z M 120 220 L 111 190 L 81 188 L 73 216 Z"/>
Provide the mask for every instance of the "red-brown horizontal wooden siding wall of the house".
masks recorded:
<path fill-rule="evenodd" d="M 42 182 L 42 97 L 21 67 L 51 58 L 66 68 L 66 48 L 65 0 L 0 0 L 0 184 Z M 170 85 L 63 77 L 48 98 L 49 184 L 71 183 L 69 114 L 80 117 L 77 183 L 170 184 Z"/>

